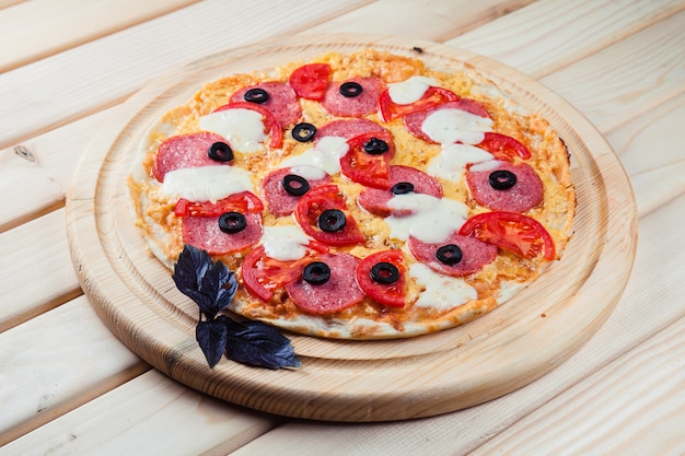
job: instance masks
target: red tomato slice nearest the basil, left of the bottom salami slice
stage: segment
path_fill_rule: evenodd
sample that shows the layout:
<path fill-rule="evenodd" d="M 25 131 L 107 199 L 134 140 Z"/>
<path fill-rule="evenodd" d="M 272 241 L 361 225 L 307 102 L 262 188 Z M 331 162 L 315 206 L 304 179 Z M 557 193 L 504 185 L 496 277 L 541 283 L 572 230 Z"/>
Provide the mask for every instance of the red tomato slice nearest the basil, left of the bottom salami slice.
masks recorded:
<path fill-rule="evenodd" d="M 299 259 L 278 260 L 265 255 L 263 245 L 257 246 L 245 256 L 241 273 L 247 291 L 264 302 L 274 297 L 274 291 L 295 281 L 302 274 L 302 269 L 320 254 L 328 252 L 328 247 L 314 242 L 311 248 Z"/>

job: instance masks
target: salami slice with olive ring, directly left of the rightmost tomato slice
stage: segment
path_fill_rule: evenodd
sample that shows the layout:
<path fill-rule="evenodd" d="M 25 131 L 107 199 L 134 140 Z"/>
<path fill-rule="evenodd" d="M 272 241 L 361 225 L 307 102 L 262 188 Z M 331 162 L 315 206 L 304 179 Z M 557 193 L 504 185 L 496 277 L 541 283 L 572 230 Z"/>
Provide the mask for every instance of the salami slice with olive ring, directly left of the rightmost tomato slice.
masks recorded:
<path fill-rule="evenodd" d="M 497 246 L 457 232 L 441 244 L 427 244 L 410 236 L 409 252 L 432 270 L 452 277 L 478 272 L 497 258 Z"/>

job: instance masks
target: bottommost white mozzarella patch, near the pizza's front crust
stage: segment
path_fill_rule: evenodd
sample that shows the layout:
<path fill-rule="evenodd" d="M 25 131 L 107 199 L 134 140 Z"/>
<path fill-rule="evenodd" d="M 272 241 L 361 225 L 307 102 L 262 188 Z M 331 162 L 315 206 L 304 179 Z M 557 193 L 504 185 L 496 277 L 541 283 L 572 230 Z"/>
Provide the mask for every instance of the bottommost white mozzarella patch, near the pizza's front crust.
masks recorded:
<path fill-rule="evenodd" d="M 478 297 L 478 292 L 464 279 L 433 272 L 428 266 L 416 262 L 409 267 L 409 276 L 425 288 L 414 304 L 446 311 Z"/>

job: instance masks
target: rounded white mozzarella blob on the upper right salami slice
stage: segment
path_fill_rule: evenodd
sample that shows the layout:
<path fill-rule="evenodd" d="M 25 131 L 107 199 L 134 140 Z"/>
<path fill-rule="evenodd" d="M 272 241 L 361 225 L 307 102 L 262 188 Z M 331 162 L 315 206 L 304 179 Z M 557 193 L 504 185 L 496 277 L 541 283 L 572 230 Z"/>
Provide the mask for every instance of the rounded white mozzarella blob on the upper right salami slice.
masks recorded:
<path fill-rule="evenodd" d="M 492 130 L 492 119 L 463 109 L 437 109 L 426 117 L 421 130 L 441 144 L 477 144 L 483 141 L 485 131 Z"/>

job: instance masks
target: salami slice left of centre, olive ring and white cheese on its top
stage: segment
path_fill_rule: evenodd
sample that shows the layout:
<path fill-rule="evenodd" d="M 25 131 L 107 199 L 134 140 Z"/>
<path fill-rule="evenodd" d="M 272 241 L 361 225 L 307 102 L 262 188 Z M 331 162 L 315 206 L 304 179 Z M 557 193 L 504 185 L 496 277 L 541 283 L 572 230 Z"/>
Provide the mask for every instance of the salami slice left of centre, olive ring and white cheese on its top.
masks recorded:
<path fill-rule="evenodd" d="M 332 183 L 330 176 L 318 167 L 292 166 L 269 173 L 262 187 L 269 211 L 276 217 L 283 217 L 294 211 L 298 201 L 309 189 Z"/>

